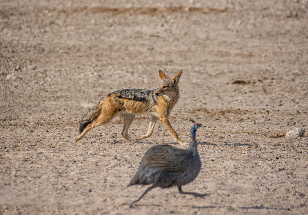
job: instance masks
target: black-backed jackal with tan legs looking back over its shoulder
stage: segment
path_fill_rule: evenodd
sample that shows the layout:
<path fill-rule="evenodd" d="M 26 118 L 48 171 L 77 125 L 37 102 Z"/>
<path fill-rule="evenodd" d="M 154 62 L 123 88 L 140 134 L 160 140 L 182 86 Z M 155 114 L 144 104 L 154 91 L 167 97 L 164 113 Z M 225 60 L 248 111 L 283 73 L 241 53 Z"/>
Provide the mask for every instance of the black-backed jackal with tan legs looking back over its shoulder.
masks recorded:
<path fill-rule="evenodd" d="M 169 114 L 179 99 L 179 80 L 182 69 L 173 77 L 169 78 L 162 70 L 159 71 L 161 78 L 158 89 L 121 89 L 103 97 L 98 105 L 94 107 L 81 120 L 80 135 L 76 141 L 81 140 L 89 131 L 100 125 L 110 122 L 115 116 L 124 118 L 124 126 L 121 135 L 128 141 L 134 142 L 128 136 L 128 128 L 134 120 L 135 115 L 150 115 L 147 133 L 137 137 L 135 141 L 148 138 L 152 135 L 157 119 L 166 126 L 174 139 L 181 145 L 176 131 L 169 122 Z"/>

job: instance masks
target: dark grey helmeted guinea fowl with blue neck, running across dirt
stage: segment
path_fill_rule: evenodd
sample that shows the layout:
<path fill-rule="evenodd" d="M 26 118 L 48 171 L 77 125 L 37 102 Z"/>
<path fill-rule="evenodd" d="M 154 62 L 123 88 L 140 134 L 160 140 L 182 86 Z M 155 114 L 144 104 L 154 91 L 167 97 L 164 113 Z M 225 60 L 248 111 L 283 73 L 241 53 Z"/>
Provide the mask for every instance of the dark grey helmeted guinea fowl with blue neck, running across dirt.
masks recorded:
<path fill-rule="evenodd" d="M 136 184 L 152 184 L 152 186 L 148 187 L 139 198 L 134 200 L 130 207 L 155 187 L 177 186 L 182 194 L 192 194 L 198 197 L 206 195 L 182 190 L 182 185 L 192 182 L 201 169 L 196 143 L 196 130 L 201 124 L 195 123 L 193 120 L 190 121 L 192 122 L 190 127 L 191 143 L 188 149 L 179 149 L 170 145 L 157 145 L 151 147 L 144 154 L 138 171 L 127 186 Z"/>

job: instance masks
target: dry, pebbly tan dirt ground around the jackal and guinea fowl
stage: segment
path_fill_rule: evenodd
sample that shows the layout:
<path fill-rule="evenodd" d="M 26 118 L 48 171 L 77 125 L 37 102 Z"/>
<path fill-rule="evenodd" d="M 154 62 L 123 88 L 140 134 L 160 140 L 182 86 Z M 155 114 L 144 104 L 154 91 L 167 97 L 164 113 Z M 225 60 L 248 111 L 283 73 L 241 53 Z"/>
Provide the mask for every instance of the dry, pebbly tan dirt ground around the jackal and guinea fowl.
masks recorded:
<path fill-rule="evenodd" d="M 147 3 L 144 3 L 147 2 Z M 0 214 L 307 214 L 308 2 L 0 0 Z M 158 122 L 128 143 L 119 118 L 80 142 L 106 94 L 157 88 L 183 68 L 170 121 L 197 131 L 184 191 L 126 188 Z M 144 134 L 137 116 L 129 133 Z M 293 128 L 303 137 L 287 138 Z"/>

